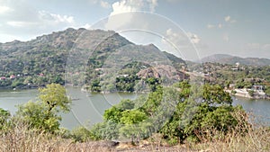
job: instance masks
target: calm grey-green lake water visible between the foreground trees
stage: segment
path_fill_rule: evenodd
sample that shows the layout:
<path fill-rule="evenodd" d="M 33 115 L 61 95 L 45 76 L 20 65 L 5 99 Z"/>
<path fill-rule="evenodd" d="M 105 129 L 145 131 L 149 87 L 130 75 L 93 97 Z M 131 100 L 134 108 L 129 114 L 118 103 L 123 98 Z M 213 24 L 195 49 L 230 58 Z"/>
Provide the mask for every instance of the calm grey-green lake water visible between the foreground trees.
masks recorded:
<path fill-rule="evenodd" d="M 79 88 L 67 88 L 68 95 L 74 99 L 72 111 L 62 114 L 61 126 L 73 129 L 78 125 L 92 125 L 103 120 L 104 110 L 113 104 L 119 103 L 121 99 L 135 99 L 139 94 L 87 94 Z M 0 90 L 0 107 L 16 112 L 16 105 L 37 100 L 37 90 Z M 248 112 L 253 112 L 257 120 L 270 123 L 270 101 L 248 100 L 233 97 L 233 105 L 240 104 Z"/>

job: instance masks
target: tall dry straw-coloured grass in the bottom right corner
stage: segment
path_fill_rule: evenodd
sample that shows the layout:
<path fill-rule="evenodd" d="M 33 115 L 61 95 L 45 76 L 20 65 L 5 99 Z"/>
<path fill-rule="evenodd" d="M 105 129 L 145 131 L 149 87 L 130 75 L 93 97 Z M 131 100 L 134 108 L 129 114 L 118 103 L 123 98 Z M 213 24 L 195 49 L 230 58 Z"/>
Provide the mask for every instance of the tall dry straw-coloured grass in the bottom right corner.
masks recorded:
<path fill-rule="evenodd" d="M 247 117 L 248 116 L 248 117 Z M 251 113 L 234 113 L 238 120 L 245 118 L 249 124 L 242 123 L 236 129 L 230 130 L 224 135 L 222 132 L 211 130 L 202 136 L 202 142 L 193 145 L 194 149 L 217 152 L 269 152 L 270 151 L 270 127 L 269 124 L 255 123 Z M 257 121 L 257 120 L 256 120 Z M 246 130 L 243 133 L 241 130 Z M 209 133 L 211 132 L 211 133 Z M 214 133 L 212 133 L 214 132 Z M 205 134 L 204 134 L 205 135 Z"/>

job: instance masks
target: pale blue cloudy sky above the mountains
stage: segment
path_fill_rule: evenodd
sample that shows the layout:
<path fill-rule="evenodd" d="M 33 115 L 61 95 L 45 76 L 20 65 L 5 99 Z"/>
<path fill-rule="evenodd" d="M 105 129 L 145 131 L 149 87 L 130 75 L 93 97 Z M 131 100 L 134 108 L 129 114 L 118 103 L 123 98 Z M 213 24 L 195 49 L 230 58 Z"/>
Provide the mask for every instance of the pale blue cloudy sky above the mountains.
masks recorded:
<path fill-rule="evenodd" d="M 0 42 L 100 28 L 184 59 L 270 58 L 269 14 L 269 0 L 0 0 Z"/>

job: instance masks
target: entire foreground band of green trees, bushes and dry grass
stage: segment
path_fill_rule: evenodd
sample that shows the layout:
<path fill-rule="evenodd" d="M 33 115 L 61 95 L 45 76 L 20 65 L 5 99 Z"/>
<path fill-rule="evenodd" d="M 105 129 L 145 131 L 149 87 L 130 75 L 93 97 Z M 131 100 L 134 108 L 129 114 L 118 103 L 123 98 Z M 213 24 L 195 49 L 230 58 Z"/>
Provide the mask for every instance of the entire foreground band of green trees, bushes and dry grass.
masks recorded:
<path fill-rule="evenodd" d="M 14 116 L 1 109 L 0 150 L 270 150 L 270 128 L 247 122 L 249 115 L 231 105 L 220 85 L 199 87 L 184 81 L 174 88 L 152 89 L 148 98 L 112 106 L 94 127 L 69 131 L 59 128 L 59 112 L 70 110 L 65 88 L 47 85 L 40 89 L 38 102 L 19 106 Z"/>

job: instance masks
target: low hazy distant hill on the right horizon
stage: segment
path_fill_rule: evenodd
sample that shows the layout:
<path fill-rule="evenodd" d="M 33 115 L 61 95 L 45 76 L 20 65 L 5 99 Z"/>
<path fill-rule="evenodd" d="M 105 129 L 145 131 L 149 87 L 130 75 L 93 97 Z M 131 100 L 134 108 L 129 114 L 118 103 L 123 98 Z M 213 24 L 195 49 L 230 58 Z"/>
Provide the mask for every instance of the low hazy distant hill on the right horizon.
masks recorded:
<path fill-rule="evenodd" d="M 216 62 L 222 64 L 236 64 L 247 66 L 268 66 L 270 65 L 270 59 L 267 58 L 239 58 L 236 56 L 230 56 L 226 54 L 215 54 L 206 58 L 202 58 L 202 62 Z"/>

